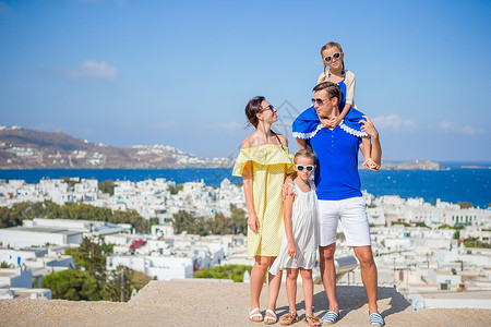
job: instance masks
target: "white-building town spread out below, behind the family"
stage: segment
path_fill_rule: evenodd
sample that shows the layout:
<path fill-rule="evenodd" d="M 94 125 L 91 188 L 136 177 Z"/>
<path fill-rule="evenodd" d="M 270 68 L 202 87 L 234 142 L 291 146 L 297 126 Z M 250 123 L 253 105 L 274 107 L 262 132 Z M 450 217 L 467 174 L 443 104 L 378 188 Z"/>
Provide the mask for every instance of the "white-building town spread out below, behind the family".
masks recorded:
<path fill-rule="evenodd" d="M 467 307 L 491 307 L 489 208 L 440 199 L 430 204 L 397 195 L 375 197 L 367 192 L 363 198 L 380 286 L 396 287 L 415 310 L 462 307 L 463 300 Z M 124 266 L 157 280 L 193 278 L 200 268 L 226 264 L 252 265 L 243 234 L 175 232 L 172 221 L 181 211 L 213 219 L 216 214 L 229 217 L 231 207 L 246 210 L 241 185 L 228 179 L 219 187 L 203 181 L 181 185 L 165 179 L 115 181 L 110 193 L 103 193 L 94 179 L 43 179 L 37 184 L 0 181 L 0 207 L 45 201 L 135 210 L 155 223 L 149 233 L 139 233 L 130 223 L 36 217 L 0 229 L 0 263 L 8 266 L 0 269 L 0 298 L 50 299 L 51 291 L 41 288 L 43 278 L 74 268 L 65 250 L 80 246 L 84 238 L 113 244 L 107 271 Z M 356 258 L 343 234 L 337 243 L 338 283 L 361 284 Z M 319 270 L 314 269 L 314 278 L 321 282 Z"/>

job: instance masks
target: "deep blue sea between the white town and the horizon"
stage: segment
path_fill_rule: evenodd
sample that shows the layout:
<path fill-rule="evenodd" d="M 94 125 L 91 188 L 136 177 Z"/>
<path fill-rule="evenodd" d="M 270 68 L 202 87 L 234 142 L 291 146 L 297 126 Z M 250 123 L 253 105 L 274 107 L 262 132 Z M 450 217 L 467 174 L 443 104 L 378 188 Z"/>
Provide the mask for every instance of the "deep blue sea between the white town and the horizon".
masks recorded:
<path fill-rule="evenodd" d="M 441 198 L 445 202 L 470 202 L 474 206 L 488 207 L 491 203 L 491 165 L 469 162 L 443 162 L 447 170 L 360 170 L 361 189 L 376 196 L 399 195 L 422 197 L 427 202 Z M 471 168 L 463 168 L 463 167 Z M 0 170 L 0 179 L 21 179 L 37 183 L 41 178 L 80 177 L 105 180 L 142 181 L 165 178 L 176 183 L 203 180 L 219 186 L 225 179 L 241 182 L 231 175 L 230 168 L 188 169 L 19 169 Z"/>

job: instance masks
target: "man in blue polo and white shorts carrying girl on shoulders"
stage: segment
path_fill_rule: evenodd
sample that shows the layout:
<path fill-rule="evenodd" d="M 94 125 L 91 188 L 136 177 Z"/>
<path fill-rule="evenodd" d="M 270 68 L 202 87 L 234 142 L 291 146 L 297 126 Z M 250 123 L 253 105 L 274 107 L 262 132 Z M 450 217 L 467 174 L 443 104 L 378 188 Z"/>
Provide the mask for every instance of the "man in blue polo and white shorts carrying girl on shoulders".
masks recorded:
<path fill-rule="evenodd" d="M 342 90 L 334 83 L 320 83 L 314 87 L 312 102 L 322 126 L 309 141 L 299 140 L 299 148 L 311 148 L 318 156 L 315 185 L 319 198 L 320 217 L 320 256 L 324 289 L 330 301 L 330 310 L 322 318 L 325 323 L 335 323 L 339 314 L 336 300 L 336 271 L 334 253 L 336 250 L 336 230 L 340 220 L 346 244 L 352 246 L 360 262 L 361 278 L 369 301 L 370 324 L 383 326 L 384 319 L 376 305 L 376 266 L 370 240 L 370 228 L 364 201 L 360 192 L 358 174 L 358 149 L 361 137 L 357 136 L 342 121 L 334 129 L 327 128 L 330 119 L 339 116 Z M 380 165 L 381 146 L 379 133 L 368 117 L 361 120 L 361 131 L 372 141 L 371 158 Z"/>

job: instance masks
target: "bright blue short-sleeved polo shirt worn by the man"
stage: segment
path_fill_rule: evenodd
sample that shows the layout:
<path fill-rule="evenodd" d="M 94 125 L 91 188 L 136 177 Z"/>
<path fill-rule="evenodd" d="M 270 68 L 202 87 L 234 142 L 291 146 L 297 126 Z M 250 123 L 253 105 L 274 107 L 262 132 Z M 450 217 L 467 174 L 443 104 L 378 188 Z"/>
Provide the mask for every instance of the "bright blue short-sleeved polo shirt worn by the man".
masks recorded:
<path fill-rule="evenodd" d="M 343 128 L 342 122 L 334 130 L 321 129 L 310 140 L 318 156 L 314 177 L 319 199 L 337 201 L 361 196 L 358 174 L 361 137 L 349 134 Z"/>

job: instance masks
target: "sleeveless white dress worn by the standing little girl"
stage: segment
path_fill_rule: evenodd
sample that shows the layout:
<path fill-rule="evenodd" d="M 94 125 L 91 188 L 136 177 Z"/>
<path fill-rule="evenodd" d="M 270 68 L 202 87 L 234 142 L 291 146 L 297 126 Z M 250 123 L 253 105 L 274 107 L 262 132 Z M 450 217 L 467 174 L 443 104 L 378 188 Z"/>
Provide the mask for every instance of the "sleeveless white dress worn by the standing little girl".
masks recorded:
<path fill-rule="evenodd" d="M 270 268 L 273 275 L 286 268 L 312 269 L 315 267 L 319 246 L 318 196 L 314 183 L 309 181 L 309 184 L 312 189 L 310 192 L 302 192 L 297 184 L 290 184 L 297 195 L 291 210 L 291 230 L 297 257 L 288 255 L 288 241 L 284 232 L 279 255 Z"/>

